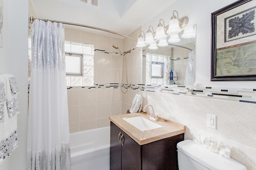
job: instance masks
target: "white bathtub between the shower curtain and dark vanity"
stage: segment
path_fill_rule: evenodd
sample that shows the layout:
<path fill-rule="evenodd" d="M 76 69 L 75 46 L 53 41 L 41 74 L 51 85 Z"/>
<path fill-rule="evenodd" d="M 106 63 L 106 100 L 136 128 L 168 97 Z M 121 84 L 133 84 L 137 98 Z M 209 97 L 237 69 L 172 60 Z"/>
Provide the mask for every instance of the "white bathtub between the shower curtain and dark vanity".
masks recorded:
<path fill-rule="evenodd" d="M 70 133 L 71 170 L 110 169 L 110 127 Z"/>

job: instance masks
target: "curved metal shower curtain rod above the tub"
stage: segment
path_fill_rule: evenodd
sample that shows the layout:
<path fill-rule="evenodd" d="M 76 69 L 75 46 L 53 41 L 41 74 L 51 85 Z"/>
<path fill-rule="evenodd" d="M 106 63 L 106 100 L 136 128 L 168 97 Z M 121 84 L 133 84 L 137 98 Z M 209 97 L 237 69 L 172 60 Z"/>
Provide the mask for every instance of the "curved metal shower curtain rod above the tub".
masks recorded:
<path fill-rule="evenodd" d="M 29 16 L 29 18 L 28 18 L 29 23 L 33 23 L 33 21 L 36 20 L 36 19 L 38 19 L 38 18 L 34 18 L 33 16 Z M 42 19 L 38 19 L 38 20 L 42 20 Z M 55 21 L 55 20 L 43 20 L 43 21 L 57 22 L 57 23 L 63 23 L 63 24 L 67 24 L 67 25 L 75 25 L 75 26 L 80 26 L 80 27 L 97 29 L 97 30 L 100 30 L 100 31 L 105 31 L 105 32 L 108 32 L 108 33 L 113 33 L 113 34 L 116 34 L 116 35 L 120 35 L 122 37 L 126 37 L 126 38 L 132 39 L 133 41 L 137 42 L 136 39 L 133 39 L 131 37 L 128 37 L 126 35 L 123 35 L 123 34 L 120 34 L 120 33 L 114 32 L 114 31 L 110 31 L 108 29 L 93 27 L 93 26 L 89 26 L 89 25 L 83 25 L 83 24 L 79 24 L 79 23 L 64 22 L 64 21 Z"/>

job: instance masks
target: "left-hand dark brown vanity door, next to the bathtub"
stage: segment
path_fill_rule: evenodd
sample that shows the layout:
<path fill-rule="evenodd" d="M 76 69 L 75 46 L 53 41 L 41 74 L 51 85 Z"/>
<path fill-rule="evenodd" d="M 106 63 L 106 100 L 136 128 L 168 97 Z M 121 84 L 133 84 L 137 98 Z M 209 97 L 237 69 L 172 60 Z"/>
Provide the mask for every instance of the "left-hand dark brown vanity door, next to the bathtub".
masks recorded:
<path fill-rule="evenodd" d="M 121 170 L 122 145 L 118 141 L 119 133 L 122 134 L 123 132 L 114 123 L 110 122 L 110 170 Z"/>

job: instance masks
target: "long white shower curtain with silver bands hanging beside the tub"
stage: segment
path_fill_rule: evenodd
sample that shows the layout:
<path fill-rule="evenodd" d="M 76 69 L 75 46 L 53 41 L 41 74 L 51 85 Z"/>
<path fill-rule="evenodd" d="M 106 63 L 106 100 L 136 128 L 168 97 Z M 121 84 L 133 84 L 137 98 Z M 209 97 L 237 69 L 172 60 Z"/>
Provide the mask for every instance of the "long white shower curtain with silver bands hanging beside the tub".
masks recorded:
<path fill-rule="evenodd" d="M 69 170 L 64 25 L 35 20 L 28 111 L 28 170 Z"/>

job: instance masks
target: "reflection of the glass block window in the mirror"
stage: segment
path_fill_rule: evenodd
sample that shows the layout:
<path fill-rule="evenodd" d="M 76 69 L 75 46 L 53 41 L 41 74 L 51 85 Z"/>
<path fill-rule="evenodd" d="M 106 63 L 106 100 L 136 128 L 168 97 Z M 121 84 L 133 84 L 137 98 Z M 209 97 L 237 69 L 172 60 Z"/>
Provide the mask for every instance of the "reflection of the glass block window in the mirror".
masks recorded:
<path fill-rule="evenodd" d="M 161 69 L 164 73 L 159 76 L 155 76 L 152 73 L 152 63 L 161 64 Z M 146 84 L 168 84 L 168 75 L 170 70 L 170 56 L 158 55 L 158 54 L 146 54 Z M 153 76 L 152 76 L 153 75 Z"/>

